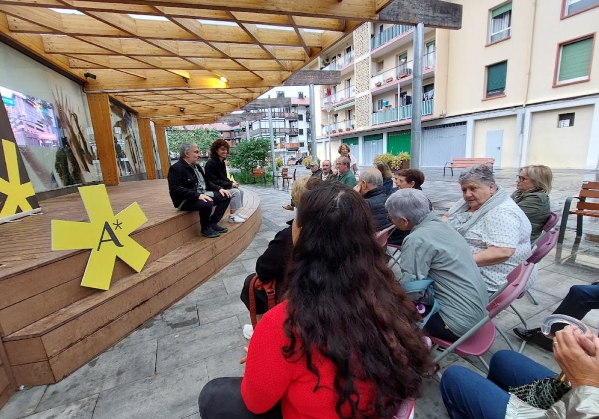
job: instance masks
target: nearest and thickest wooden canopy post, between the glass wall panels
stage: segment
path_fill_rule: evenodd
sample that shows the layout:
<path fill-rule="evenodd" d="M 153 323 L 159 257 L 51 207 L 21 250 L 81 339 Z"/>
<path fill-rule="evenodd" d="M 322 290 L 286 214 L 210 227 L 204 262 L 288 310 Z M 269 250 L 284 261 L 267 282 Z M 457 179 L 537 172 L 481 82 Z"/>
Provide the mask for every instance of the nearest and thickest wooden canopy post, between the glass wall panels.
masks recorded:
<path fill-rule="evenodd" d="M 98 159 L 102 168 L 102 177 L 107 185 L 119 184 L 119 167 L 117 166 L 116 150 L 112 122 L 110 120 L 110 103 L 107 93 L 88 93 L 87 103 L 92 116 L 93 135 L 98 148 Z"/>

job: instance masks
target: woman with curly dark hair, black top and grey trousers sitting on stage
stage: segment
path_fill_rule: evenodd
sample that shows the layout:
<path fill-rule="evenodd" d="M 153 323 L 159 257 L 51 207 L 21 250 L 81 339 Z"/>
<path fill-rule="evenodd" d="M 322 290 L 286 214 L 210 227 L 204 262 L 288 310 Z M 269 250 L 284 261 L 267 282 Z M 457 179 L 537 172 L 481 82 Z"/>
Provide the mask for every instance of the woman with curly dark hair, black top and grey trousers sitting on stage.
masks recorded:
<path fill-rule="evenodd" d="M 225 159 L 228 155 L 229 144 L 224 139 L 217 139 L 210 146 L 210 159 L 206 162 L 204 170 L 208 180 L 231 192 L 229 223 L 243 223 L 247 217 L 237 212 L 243 207 L 243 190 L 237 182 L 229 180 L 226 175 Z"/>

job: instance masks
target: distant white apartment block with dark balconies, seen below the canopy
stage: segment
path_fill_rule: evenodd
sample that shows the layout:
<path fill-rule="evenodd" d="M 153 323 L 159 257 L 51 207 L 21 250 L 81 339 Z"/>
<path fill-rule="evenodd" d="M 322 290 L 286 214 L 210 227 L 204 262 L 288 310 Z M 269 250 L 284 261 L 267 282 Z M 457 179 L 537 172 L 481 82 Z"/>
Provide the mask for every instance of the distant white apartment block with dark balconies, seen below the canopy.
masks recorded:
<path fill-rule="evenodd" d="M 301 157 L 310 154 L 310 99 L 307 97 L 308 87 L 305 92 L 298 89 L 277 88 L 277 98 L 291 97 L 291 107 L 273 108 L 273 134 L 275 142 L 275 156 L 282 157 L 286 161 L 289 157 Z M 267 110 L 256 110 L 252 112 L 264 112 Z M 268 137 L 268 117 L 250 122 L 250 136 Z"/>

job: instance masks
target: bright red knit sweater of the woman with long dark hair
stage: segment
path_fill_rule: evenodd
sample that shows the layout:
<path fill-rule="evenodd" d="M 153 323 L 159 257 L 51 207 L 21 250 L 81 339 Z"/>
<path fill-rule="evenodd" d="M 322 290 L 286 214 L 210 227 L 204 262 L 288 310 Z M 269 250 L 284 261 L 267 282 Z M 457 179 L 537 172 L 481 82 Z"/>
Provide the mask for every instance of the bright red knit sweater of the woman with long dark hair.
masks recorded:
<path fill-rule="evenodd" d="M 313 351 L 313 364 L 320 373 L 320 385 L 314 392 L 316 375 L 308 371 L 305 357 L 297 362 L 283 357 L 281 348 L 289 344 L 283 331 L 286 306 L 286 301 L 274 306 L 256 325 L 241 381 L 243 401 L 250 411 L 263 413 L 281 400 L 284 419 L 338 419 L 335 411 L 338 394 L 333 384 L 337 369 L 334 363 Z M 370 385 L 358 382 L 360 408 L 364 408 L 370 400 L 369 388 Z M 349 414 L 349 406 L 347 408 L 344 413 Z"/>

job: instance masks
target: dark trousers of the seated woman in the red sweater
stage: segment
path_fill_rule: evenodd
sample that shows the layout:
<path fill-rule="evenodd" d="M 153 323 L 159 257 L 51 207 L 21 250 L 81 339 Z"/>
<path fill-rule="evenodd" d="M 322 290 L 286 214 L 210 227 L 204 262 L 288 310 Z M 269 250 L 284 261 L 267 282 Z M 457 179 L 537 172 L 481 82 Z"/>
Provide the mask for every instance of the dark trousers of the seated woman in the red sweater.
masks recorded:
<path fill-rule="evenodd" d="M 250 412 L 241 398 L 241 377 L 208 381 L 199 393 L 198 405 L 202 419 L 283 419 L 280 402 L 268 412 Z"/>

